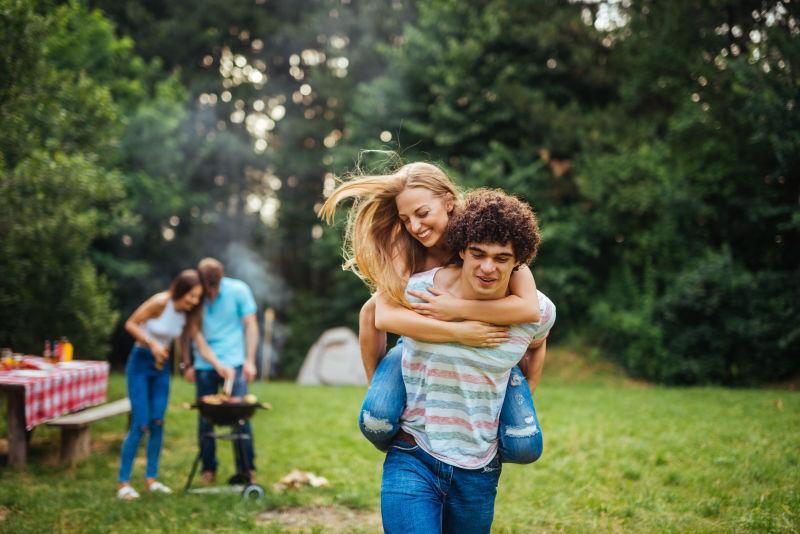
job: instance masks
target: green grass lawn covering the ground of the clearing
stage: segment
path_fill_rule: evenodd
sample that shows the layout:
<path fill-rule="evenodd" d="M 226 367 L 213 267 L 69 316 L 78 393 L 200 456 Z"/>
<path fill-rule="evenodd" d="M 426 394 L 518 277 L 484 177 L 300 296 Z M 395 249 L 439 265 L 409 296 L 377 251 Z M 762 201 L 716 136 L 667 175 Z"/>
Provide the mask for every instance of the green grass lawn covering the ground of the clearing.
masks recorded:
<path fill-rule="evenodd" d="M 281 532 L 259 514 L 295 507 L 298 517 L 322 521 L 314 531 L 375 531 L 382 455 L 356 425 L 364 388 L 252 389 L 274 406 L 253 420 L 266 498 L 176 491 L 118 502 L 125 418 L 96 423 L 93 454 L 76 467 L 56 464 L 58 432 L 42 426 L 26 471 L 0 467 L 0 532 Z M 110 398 L 124 395 L 124 376 L 114 375 Z M 161 480 L 176 490 L 197 453 L 196 413 L 183 406 L 192 397 L 193 386 L 173 381 Z M 800 393 L 652 387 L 556 349 L 536 403 L 545 453 L 533 465 L 503 467 L 495 532 L 800 531 Z M 221 445 L 224 480 L 233 462 Z M 295 468 L 330 486 L 272 491 Z M 142 448 L 139 489 L 143 472 Z"/>

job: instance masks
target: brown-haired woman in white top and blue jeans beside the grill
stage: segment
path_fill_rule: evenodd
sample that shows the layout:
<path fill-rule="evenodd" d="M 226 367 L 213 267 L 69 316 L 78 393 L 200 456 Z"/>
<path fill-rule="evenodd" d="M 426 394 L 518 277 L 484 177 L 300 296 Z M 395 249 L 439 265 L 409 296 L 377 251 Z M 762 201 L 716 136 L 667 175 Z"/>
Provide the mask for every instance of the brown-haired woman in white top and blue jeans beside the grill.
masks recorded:
<path fill-rule="evenodd" d="M 221 376 L 230 369 L 222 367 L 203 339 L 198 327 L 202 318 L 203 286 L 194 269 L 181 272 L 167 291 L 147 299 L 125 322 L 125 330 L 135 343 L 128 357 L 127 383 L 131 401 L 131 426 L 122 444 L 117 498 L 133 500 L 139 493 L 131 486 L 133 461 L 139 442 L 149 432 L 145 487 L 150 492 L 172 493 L 158 481 L 158 462 L 164 436 L 164 414 L 169 399 L 169 346 L 172 340 L 191 333 L 204 357 Z M 207 355 L 208 353 L 208 355 Z"/>

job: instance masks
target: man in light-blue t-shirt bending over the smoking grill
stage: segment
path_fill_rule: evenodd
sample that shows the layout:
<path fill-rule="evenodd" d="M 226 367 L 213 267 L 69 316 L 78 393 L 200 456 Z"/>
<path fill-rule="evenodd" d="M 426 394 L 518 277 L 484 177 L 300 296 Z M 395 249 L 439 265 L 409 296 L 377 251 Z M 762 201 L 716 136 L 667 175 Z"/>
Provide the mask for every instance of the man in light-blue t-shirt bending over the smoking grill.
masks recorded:
<path fill-rule="evenodd" d="M 256 302 L 253 292 L 241 280 L 228 278 L 222 263 L 214 258 L 205 258 L 197 265 L 203 282 L 203 337 L 213 355 L 225 368 L 225 374 L 235 376 L 231 396 L 244 397 L 247 384 L 256 376 L 256 345 L 258 343 L 258 322 Z M 184 376 L 195 381 L 197 398 L 216 394 L 225 382 L 210 362 L 203 358 L 194 347 L 194 368 L 184 362 Z M 202 417 L 198 417 L 198 440 L 203 461 L 202 479 L 211 483 L 216 478 L 217 458 L 214 438 L 207 437 L 213 427 Z M 242 427 L 249 436 L 243 440 L 244 457 L 236 452 L 237 475 L 230 483 L 245 484 L 253 481 L 255 464 L 253 453 L 253 433 L 250 423 Z M 242 476 L 240 476 L 242 475 Z"/>

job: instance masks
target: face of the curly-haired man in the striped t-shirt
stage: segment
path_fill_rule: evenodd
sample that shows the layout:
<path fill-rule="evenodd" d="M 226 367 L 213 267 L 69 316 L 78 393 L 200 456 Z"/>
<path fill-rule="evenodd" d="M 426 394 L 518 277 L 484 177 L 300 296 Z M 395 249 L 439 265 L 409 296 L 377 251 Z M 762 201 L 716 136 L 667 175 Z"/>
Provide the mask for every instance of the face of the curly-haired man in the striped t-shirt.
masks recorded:
<path fill-rule="evenodd" d="M 508 283 L 517 262 L 511 242 L 470 243 L 459 255 L 464 260 L 461 278 L 474 297 L 481 300 L 498 299 L 508 293 Z"/>

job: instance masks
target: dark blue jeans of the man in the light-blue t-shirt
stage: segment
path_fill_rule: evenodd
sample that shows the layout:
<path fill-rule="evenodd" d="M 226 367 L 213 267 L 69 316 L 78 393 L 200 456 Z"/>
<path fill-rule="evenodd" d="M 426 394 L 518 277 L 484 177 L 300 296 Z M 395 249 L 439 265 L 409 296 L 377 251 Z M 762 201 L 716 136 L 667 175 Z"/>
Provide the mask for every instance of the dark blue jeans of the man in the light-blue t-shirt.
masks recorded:
<path fill-rule="evenodd" d="M 236 367 L 236 379 L 233 381 L 233 391 L 231 393 L 234 397 L 244 397 L 247 395 L 247 381 L 242 376 L 242 366 Z M 197 398 L 204 395 L 216 394 L 225 380 L 217 374 L 213 369 L 196 369 L 195 370 L 195 383 L 197 385 Z M 206 437 L 206 434 L 214 431 L 214 426 L 203 419 L 198 414 L 197 419 L 197 441 L 200 446 L 200 456 L 203 459 L 203 471 L 216 471 L 217 470 L 217 443 L 214 438 Z M 250 422 L 246 422 L 239 427 L 237 432 L 246 434 L 249 439 L 242 442 L 244 449 L 244 459 L 241 457 L 239 450 L 236 448 L 234 442 L 233 452 L 236 458 L 236 469 L 238 473 L 248 473 L 255 471 L 255 454 L 253 452 L 253 430 L 250 427 Z"/>

